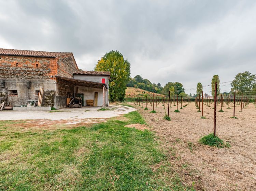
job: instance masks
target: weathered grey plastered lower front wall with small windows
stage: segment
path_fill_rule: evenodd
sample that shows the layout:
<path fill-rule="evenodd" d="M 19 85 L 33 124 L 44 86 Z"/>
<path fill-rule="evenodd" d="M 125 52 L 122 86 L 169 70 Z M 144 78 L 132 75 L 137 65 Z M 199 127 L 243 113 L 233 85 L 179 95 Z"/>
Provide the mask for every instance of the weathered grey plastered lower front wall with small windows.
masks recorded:
<path fill-rule="evenodd" d="M 20 79 L 7 78 L 4 79 L 5 88 L 0 87 L 0 102 L 5 102 L 7 105 L 12 100 L 13 106 L 25 105 L 27 100 L 38 100 L 36 90 L 44 86 L 44 94 L 42 106 L 53 106 L 53 101 L 56 92 L 56 83 L 51 79 Z M 27 87 L 27 81 L 30 82 L 30 88 Z M 9 96 L 9 90 L 17 90 L 17 96 Z"/>

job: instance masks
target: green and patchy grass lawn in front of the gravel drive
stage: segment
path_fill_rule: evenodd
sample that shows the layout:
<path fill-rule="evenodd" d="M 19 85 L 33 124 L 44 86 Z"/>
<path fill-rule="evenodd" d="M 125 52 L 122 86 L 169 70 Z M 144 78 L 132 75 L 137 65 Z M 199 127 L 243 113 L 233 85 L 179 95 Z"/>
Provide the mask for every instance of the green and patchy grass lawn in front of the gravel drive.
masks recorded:
<path fill-rule="evenodd" d="M 0 190 L 194 190 L 165 163 L 151 131 L 124 127 L 145 124 L 141 115 L 125 117 L 35 132 L 0 121 Z"/>

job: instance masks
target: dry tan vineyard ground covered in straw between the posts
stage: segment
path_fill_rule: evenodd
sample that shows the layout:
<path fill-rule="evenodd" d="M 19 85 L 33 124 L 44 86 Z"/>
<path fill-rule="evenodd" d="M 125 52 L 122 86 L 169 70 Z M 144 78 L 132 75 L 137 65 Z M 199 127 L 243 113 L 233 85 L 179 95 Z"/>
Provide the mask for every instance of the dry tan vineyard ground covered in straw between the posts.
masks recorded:
<path fill-rule="evenodd" d="M 133 103 L 129 103 L 134 106 Z M 229 142 L 230 148 L 216 148 L 198 143 L 200 137 L 213 132 L 213 112 L 211 107 L 203 105 L 204 116 L 197 112 L 195 103 L 189 103 L 180 113 L 174 113 L 176 106 L 170 108 L 171 121 L 163 119 L 168 104 L 163 109 L 161 103 L 155 107 L 157 113 L 148 104 L 148 110 L 135 106 L 156 132 L 162 142 L 162 148 L 169 155 L 173 168 L 183 177 L 188 185 L 195 182 L 197 190 L 256 190 L 256 108 L 250 103 L 239 112 L 236 105 L 235 116 L 233 107 L 218 112 L 217 106 L 216 134 Z M 182 104 L 183 105 L 183 104 Z M 145 105 L 143 104 L 143 107 Z M 200 107 L 201 110 L 201 107 Z"/>

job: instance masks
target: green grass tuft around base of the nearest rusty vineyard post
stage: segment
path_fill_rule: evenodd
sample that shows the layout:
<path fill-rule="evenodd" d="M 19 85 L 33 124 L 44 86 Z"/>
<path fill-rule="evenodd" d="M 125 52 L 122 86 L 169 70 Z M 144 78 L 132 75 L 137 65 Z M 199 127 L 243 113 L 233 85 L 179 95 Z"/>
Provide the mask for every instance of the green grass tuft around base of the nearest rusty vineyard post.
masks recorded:
<path fill-rule="evenodd" d="M 205 135 L 202 138 L 200 138 L 199 143 L 203 145 L 209 145 L 211 147 L 218 147 L 218 148 L 230 147 L 230 144 L 228 142 L 224 142 L 219 137 L 214 136 L 213 133 L 210 133 L 209 135 Z"/>

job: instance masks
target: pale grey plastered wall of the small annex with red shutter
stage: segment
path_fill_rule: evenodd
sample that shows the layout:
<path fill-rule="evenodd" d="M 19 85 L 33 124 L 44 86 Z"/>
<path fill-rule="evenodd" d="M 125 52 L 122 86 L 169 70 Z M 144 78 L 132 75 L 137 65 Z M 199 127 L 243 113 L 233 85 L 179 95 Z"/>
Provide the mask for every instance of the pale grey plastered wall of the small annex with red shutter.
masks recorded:
<path fill-rule="evenodd" d="M 104 78 L 107 87 L 109 87 L 109 76 L 74 74 L 74 78 L 87 80 L 87 81 L 91 81 L 91 82 L 99 82 L 99 83 L 101 83 L 102 82 L 101 79 Z M 86 93 L 86 95 L 88 95 L 88 98 L 85 97 L 85 102 L 86 102 L 86 100 L 94 100 L 94 92 L 101 92 L 101 94 L 98 93 L 98 105 L 99 106 L 103 105 L 103 94 L 102 94 L 103 90 L 102 89 L 100 90 L 97 88 L 91 88 L 91 90 L 87 89 L 86 91 L 88 91 Z M 82 93 L 84 93 L 84 92 L 82 92 Z M 106 105 L 109 105 L 109 89 L 106 90 L 105 100 L 106 100 Z"/>

